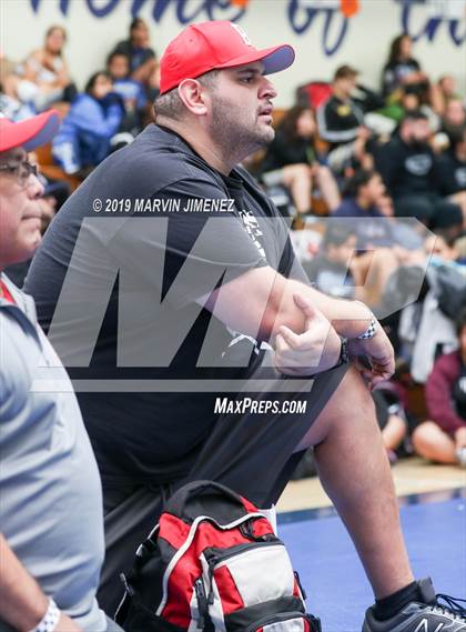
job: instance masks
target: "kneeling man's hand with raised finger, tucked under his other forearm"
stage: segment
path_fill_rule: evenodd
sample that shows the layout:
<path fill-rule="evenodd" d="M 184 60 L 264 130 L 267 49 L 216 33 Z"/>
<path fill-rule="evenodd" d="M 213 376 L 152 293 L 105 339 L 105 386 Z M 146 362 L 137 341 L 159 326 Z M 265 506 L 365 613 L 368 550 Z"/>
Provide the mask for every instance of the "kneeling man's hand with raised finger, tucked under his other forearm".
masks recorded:
<path fill-rule="evenodd" d="M 275 339 L 275 367 L 287 375 L 304 377 L 327 371 L 338 362 L 341 339 L 328 320 L 301 294 L 294 302 L 306 318 L 305 331 L 282 325 Z"/>

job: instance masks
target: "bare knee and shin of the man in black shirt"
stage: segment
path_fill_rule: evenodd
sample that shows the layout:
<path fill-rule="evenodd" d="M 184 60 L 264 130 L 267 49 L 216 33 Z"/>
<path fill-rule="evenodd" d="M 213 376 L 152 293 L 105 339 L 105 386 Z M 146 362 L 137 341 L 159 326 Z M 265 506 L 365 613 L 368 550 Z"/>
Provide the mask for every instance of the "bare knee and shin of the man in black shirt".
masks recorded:
<path fill-rule="evenodd" d="M 345 523 L 375 596 L 413 581 L 399 525 L 388 460 L 374 403 L 355 369 L 312 425 L 298 449 L 315 445 L 322 484 Z"/>

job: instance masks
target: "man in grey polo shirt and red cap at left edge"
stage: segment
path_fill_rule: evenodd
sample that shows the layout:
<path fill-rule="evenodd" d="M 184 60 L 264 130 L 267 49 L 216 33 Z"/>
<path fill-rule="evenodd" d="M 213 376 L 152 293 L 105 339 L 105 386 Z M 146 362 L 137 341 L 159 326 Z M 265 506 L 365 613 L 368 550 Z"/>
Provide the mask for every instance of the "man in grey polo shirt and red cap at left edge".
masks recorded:
<path fill-rule="evenodd" d="M 0 630 L 121 632 L 95 601 L 101 486 L 78 402 L 31 297 L 3 272 L 40 244 L 43 187 L 27 151 L 59 124 L 55 111 L 0 119 Z"/>

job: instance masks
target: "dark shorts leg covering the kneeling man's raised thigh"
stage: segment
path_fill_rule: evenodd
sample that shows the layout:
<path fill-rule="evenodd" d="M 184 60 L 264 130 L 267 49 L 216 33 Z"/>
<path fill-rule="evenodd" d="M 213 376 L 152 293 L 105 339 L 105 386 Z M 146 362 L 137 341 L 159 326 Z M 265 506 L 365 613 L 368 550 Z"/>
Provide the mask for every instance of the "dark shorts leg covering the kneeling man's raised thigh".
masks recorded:
<path fill-rule="evenodd" d="M 270 367 L 260 369 L 250 378 L 266 385 L 261 392 L 236 395 L 239 403 L 251 400 L 252 405 L 216 421 L 189 480 L 219 481 L 261 509 L 275 503 L 304 454 L 295 453 L 296 445 L 333 397 L 346 370 L 347 365 L 342 365 L 315 380 L 293 380 L 296 388 L 283 392 L 281 387 L 290 385 L 290 380 L 277 377 Z M 275 412 L 259 412 L 267 402 L 277 404 Z M 284 413 L 283 402 L 303 409 Z"/>

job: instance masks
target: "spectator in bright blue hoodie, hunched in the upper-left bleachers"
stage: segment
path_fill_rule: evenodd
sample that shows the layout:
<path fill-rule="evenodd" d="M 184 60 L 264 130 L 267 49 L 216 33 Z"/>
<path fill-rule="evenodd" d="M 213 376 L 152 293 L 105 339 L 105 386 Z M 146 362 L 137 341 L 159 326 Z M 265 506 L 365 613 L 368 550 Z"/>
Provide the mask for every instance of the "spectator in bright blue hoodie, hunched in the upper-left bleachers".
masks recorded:
<path fill-rule="evenodd" d="M 78 97 L 63 119 L 53 139 L 52 156 L 65 173 L 84 175 L 109 154 L 111 138 L 124 114 L 121 97 L 112 88 L 108 72 L 95 72 L 85 93 Z"/>

